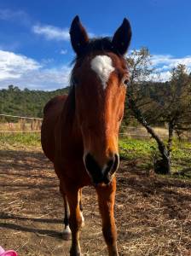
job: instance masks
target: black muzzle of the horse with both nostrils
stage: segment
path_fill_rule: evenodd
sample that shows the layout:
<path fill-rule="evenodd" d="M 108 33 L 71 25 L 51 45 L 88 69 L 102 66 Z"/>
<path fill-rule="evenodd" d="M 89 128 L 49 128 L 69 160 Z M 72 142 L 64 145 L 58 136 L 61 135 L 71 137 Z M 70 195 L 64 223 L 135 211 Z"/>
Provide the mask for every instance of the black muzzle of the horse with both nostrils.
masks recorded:
<path fill-rule="evenodd" d="M 107 160 L 107 163 L 101 167 L 93 155 L 89 153 L 84 156 L 84 165 L 95 185 L 99 183 L 108 184 L 112 181 L 113 175 L 118 169 L 119 154 L 113 154 L 113 156 Z"/>

